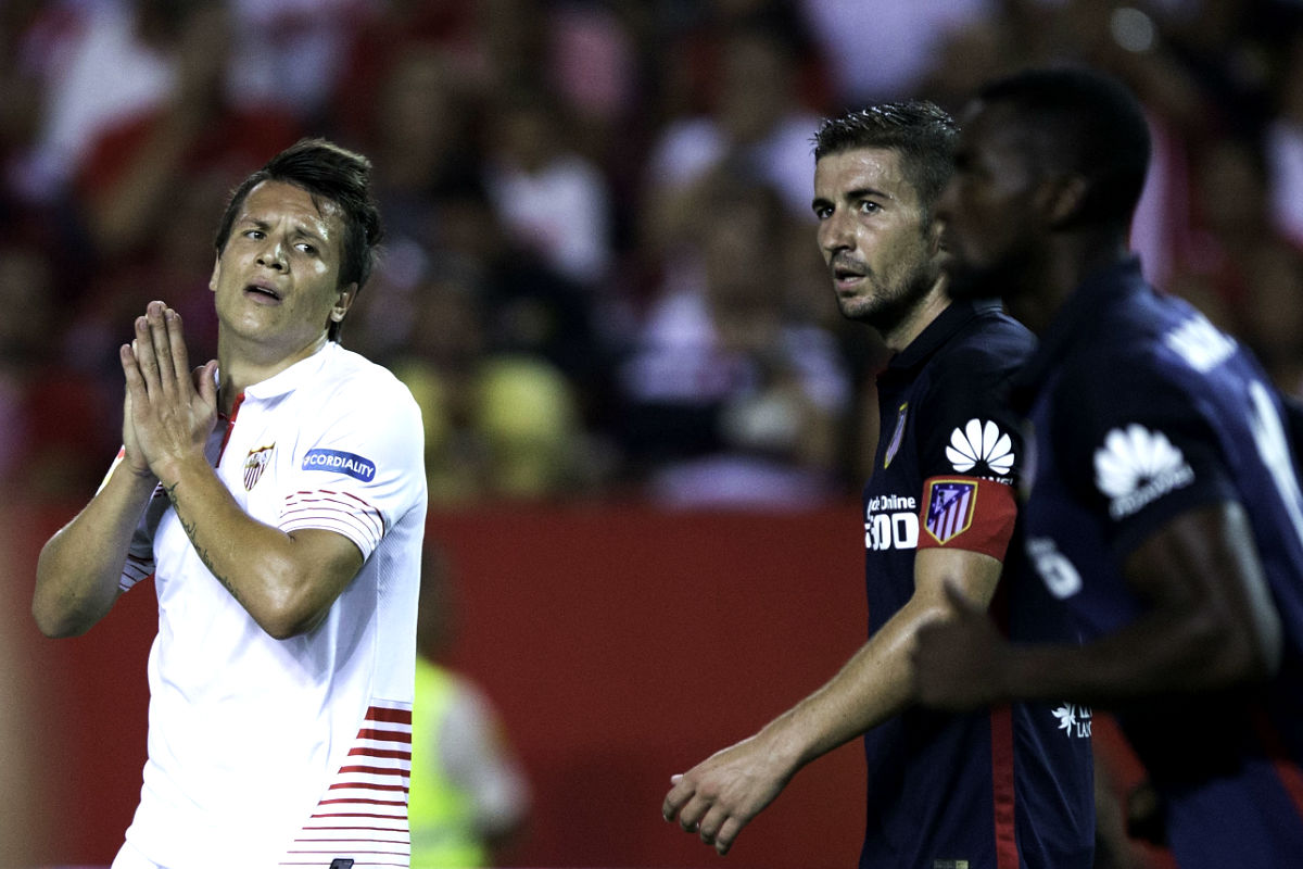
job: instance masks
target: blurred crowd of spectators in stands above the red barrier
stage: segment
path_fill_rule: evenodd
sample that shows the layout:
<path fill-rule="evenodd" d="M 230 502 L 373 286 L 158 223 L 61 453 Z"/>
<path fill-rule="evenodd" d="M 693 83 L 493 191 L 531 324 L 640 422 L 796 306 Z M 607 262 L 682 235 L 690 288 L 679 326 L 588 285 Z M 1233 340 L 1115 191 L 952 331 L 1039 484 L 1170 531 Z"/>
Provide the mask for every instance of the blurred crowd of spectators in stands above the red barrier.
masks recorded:
<path fill-rule="evenodd" d="M 81 500 L 116 348 L 162 298 L 215 354 L 225 197 L 305 134 L 388 229 L 343 340 L 425 410 L 431 507 L 853 496 L 885 352 L 814 244 L 810 135 L 1085 63 L 1149 111 L 1135 225 L 1303 393 L 1300 0 L 4 0 L 0 482 Z"/>

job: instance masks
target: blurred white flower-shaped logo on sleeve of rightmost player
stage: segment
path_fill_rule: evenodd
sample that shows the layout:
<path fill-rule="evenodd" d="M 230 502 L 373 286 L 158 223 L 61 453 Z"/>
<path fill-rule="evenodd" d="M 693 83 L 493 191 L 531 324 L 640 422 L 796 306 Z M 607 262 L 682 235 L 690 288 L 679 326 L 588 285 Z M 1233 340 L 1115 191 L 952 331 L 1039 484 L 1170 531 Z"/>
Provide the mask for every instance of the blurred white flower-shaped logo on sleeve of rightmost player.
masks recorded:
<path fill-rule="evenodd" d="M 1130 516 L 1194 479 L 1195 472 L 1181 449 L 1161 431 L 1138 423 L 1113 429 L 1095 451 L 1095 485 L 1111 499 L 1113 519 Z"/>

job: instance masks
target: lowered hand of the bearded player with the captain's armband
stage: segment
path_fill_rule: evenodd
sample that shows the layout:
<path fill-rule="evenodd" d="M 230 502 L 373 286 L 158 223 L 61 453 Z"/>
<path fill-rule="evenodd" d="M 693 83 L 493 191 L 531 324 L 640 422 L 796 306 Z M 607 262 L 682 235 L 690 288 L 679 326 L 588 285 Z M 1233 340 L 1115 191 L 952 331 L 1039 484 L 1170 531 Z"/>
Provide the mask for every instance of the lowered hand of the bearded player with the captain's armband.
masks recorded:
<path fill-rule="evenodd" d="M 753 736 L 675 775 L 661 814 L 666 821 L 678 818 L 687 833 L 698 834 L 726 855 L 741 829 L 773 803 L 791 776 L 792 771 Z"/>

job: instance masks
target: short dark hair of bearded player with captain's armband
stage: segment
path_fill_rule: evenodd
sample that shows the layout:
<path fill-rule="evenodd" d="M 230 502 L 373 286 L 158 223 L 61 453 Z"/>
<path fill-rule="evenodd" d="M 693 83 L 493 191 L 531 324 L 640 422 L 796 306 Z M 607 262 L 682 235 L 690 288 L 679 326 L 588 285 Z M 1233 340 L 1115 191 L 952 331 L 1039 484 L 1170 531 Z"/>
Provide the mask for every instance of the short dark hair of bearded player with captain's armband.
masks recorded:
<path fill-rule="evenodd" d="M 946 189 L 954 171 L 959 128 L 939 106 L 921 99 L 877 103 L 830 117 L 814 132 L 814 162 L 830 154 L 877 147 L 898 151 L 906 180 L 925 212 Z"/>

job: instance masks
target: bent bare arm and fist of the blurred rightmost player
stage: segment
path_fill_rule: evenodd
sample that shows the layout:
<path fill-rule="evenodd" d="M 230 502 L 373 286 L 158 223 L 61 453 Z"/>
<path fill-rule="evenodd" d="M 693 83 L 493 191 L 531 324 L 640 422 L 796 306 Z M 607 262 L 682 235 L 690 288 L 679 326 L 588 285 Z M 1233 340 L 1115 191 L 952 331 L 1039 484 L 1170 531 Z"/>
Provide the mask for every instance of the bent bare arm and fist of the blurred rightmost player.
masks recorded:
<path fill-rule="evenodd" d="M 1177 516 L 1123 565 L 1149 611 L 1083 646 L 1010 645 L 955 595 L 956 616 L 920 632 L 919 698 L 941 709 L 1022 698 L 1109 706 L 1267 679 L 1281 625 L 1252 541 L 1239 504 Z"/>

